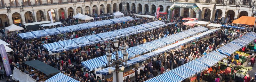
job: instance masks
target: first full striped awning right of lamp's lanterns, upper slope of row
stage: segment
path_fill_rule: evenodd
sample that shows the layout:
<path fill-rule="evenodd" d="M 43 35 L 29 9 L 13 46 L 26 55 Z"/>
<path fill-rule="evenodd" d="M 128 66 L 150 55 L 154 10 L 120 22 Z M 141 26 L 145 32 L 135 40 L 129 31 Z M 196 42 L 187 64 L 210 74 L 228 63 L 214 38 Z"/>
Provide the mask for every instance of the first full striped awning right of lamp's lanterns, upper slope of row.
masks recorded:
<path fill-rule="evenodd" d="M 131 51 L 135 55 L 139 55 L 139 54 L 143 54 L 143 53 L 147 52 L 147 50 L 145 50 L 145 49 L 143 49 L 142 47 L 139 47 L 139 46 L 130 47 L 130 48 L 127 48 L 127 50 Z"/>

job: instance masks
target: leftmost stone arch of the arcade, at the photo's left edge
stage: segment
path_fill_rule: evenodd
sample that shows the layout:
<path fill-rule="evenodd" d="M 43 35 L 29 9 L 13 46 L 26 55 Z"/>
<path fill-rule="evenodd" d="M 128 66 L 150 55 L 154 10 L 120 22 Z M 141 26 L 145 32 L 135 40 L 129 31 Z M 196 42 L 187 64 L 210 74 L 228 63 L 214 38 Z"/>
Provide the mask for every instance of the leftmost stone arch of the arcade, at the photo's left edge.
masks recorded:
<path fill-rule="evenodd" d="M 4 29 L 4 27 L 10 26 L 9 17 L 6 14 L 0 14 L 0 27 Z"/>

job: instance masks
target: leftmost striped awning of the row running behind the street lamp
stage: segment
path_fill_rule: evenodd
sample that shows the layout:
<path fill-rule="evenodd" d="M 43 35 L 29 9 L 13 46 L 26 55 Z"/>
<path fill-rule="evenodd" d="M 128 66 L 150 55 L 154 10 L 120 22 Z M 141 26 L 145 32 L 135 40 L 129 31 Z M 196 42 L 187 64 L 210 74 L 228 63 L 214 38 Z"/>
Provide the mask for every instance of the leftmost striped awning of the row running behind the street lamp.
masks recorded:
<path fill-rule="evenodd" d="M 81 63 L 89 71 L 93 71 L 95 69 L 98 69 L 98 68 L 101 68 L 101 67 L 105 67 L 107 65 L 106 63 L 101 61 L 99 58 L 93 58 L 91 60 L 86 60 L 86 61 L 83 61 Z"/>

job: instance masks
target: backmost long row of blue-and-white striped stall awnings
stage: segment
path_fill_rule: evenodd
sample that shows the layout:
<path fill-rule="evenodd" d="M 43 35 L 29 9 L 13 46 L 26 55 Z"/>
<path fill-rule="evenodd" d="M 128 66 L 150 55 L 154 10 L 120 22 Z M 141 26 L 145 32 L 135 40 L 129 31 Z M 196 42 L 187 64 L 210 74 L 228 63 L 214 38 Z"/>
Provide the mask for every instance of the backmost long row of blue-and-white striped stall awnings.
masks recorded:
<path fill-rule="evenodd" d="M 137 19 L 140 19 L 140 18 L 137 18 Z M 88 23 L 83 23 L 83 24 L 78 24 L 78 25 L 71 25 L 71 26 L 65 26 L 65 27 L 59 27 L 59 28 L 51 28 L 51 29 L 44 29 L 44 30 L 37 30 L 37 31 L 26 32 L 26 33 L 20 33 L 18 35 L 22 39 L 40 38 L 40 37 L 44 37 L 44 36 L 68 33 L 68 32 L 89 29 L 89 28 L 95 28 L 95 27 L 100 27 L 103 25 L 110 25 L 110 24 L 114 24 L 114 23 L 137 20 L 137 19 L 134 19 L 130 16 L 125 16 L 125 17 L 114 18 L 114 19 L 110 19 L 110 20 L 88 22 Z M 50 23 L 50 24 L 53 24 L 53 23 Z"/>

